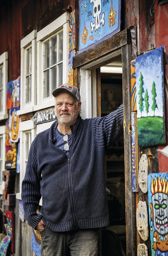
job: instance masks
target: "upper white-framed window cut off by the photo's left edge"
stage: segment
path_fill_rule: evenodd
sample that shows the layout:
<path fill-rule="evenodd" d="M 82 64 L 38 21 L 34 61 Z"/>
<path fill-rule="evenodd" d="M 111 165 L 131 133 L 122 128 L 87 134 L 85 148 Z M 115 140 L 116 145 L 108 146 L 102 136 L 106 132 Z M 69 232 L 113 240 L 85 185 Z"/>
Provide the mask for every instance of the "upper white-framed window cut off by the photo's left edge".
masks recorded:
<path fill-rule="evenodd" d="M 0 55 L 0 120 L 8 118 L 6 110 L 6 84 L 8 82 L 8 52 Z"/>

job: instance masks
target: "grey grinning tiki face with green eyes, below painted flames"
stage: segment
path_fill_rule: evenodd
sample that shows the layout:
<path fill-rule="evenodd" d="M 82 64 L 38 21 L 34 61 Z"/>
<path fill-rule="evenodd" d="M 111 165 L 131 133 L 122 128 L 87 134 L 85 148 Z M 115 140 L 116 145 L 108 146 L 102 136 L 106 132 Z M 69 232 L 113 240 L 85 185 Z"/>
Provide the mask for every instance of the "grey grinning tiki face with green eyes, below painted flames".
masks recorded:
<path fill-rule="evenodd" d="M 153 226 L 160 235 L 168 233 L 168 195 L 162 192 L 152 196 Z"/>

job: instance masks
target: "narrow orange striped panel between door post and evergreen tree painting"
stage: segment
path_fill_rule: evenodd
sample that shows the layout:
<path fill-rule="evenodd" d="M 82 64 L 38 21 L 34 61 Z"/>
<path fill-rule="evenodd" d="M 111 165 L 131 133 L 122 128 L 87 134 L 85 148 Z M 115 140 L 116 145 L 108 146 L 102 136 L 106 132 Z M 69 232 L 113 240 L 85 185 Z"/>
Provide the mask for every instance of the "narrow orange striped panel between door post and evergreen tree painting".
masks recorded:
<path fill-rule="evenodd" d="M 131 60 L 131 111 L 137 110 L 135 59 Z"/>

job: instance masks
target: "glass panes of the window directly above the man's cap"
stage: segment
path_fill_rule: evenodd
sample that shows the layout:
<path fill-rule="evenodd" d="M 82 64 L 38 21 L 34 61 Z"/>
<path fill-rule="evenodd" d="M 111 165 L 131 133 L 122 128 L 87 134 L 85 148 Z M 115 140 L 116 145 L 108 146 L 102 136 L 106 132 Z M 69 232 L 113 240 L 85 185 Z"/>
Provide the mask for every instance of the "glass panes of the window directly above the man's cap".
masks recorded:
<path fill-rule="evenodd" d="M 62 84 L 63 31 L 43 42 L 43 98 Z"/>

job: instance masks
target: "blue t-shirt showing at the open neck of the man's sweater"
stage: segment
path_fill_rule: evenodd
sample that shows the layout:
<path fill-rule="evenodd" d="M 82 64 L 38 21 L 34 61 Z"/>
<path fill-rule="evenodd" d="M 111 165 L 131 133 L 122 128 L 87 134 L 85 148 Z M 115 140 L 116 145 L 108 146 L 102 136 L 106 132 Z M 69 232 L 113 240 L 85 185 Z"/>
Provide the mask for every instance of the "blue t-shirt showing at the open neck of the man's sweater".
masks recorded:
<path fill-rule="evenodd" d="M 68 134 L 69 151 L 64 150 L 64 144 L 66 143 L 66 141 L 63 140 L 64 135 L 65 134 L 60 133 L 58 128 L 56 128 L 55 130 L 56 142 L 54 143 L 54 145 L 55 147 L 58 147 L 59 149 L 63 150 L 66 153 L 67 158 L 69 159 L 70 152 L 71 152 L 71 145 L 72 145 L 72 133 Z"/>

